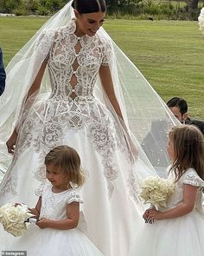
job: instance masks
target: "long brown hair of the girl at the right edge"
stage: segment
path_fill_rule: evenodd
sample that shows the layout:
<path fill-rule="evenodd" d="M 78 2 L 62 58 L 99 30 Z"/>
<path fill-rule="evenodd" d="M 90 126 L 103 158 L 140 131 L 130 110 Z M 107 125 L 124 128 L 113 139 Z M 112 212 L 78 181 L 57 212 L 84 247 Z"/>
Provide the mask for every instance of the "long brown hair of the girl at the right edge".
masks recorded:
<path fill-rule="evenodd" d="M 204 180 L 204 137 L 194 125 L 178 125 L 169 131 L 169 139 L 173 141 L 175 160 L 171 169 L 174 169 L 176 181 L 188 168 L 194 168 Z"/>

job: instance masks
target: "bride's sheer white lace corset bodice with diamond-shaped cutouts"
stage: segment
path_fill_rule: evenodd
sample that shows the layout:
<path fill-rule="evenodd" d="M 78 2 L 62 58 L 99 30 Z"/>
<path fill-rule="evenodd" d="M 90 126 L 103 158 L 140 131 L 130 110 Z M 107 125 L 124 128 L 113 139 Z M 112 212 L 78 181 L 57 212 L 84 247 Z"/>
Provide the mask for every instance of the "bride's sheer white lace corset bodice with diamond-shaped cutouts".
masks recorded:
<path fill-rule="evenodd" d="M 74 21 L 55 32 L 48 55 L 48 70 L 52 86 L 51 97 L 58 100 L 75 96 L 92 96 L 101 65 L 111 60 L 111 44 L 107 38 L 77 37 Z"/>

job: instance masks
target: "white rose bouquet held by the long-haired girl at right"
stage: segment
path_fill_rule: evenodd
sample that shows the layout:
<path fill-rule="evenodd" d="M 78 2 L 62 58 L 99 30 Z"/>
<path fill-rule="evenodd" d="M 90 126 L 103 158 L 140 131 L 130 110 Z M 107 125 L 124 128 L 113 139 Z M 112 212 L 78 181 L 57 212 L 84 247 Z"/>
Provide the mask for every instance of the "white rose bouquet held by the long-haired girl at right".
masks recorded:
<path fill-rule="evenodd" d="M 174 188 L 173 181 L 150 176 L 143 181 L 140 197 L 144 203 L 150 203 L 158 210 L 159 207 L 166 207 L 166 202 L 174 193 Z"/>

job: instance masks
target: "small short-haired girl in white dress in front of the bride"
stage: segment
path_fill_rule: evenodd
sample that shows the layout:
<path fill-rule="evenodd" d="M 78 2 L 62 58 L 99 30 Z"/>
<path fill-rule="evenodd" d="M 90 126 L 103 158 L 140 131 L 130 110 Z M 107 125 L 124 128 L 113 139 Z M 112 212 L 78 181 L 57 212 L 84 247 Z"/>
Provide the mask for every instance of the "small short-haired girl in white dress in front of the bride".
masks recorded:
<path fill-rule="evenodd" d="M 30 209 L 36 225 L 31 224 L 11 249 L 29 256 L 103 256 L 77 228 L 82 200 L 74 188 L 84 181 L 79 154 L 59 146 L 47 154 L 45 165 L 49 184 L 37 191 L 39 200 Z"/>

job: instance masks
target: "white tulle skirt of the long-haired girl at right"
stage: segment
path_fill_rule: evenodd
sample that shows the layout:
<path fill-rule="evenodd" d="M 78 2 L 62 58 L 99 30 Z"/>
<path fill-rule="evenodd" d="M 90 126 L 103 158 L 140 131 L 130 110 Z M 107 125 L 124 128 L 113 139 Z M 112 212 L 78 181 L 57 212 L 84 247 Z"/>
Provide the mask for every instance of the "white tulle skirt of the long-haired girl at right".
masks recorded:
<path fill-rule="evenodd" d="M 172 220 L 143 222 L 129 256 L 203 256 L 204 219 L 194 211 Z"/>

